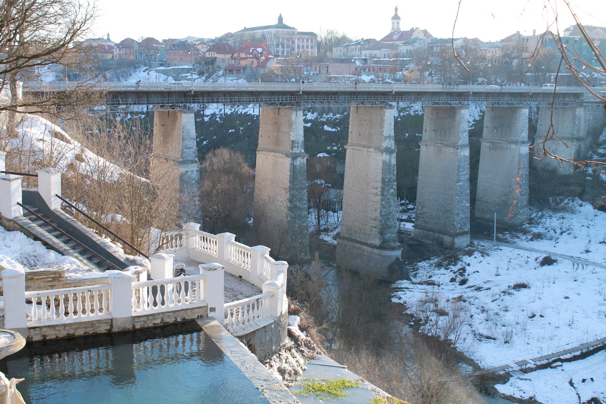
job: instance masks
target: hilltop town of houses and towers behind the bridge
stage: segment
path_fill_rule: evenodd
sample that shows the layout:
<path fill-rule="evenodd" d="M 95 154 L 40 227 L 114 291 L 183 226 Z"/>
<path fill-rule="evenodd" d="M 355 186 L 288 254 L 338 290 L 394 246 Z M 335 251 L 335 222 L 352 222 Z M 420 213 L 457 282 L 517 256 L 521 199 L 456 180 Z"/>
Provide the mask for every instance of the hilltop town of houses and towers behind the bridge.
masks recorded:
<path fill-rule="evenodd" d="M 387 18 L 386 18 L 387 20 Z M 387 21 L 386 26 L 387 26 Z M 606 27 L 587 26 L 589 44 L 576 25 L 562 32 L 562 45 L 578 54 L 570 63 L 582 68 L 581 60 L 599 67 L 593 47 L 606 51 Z M 385 29 L 387 31 L 387 27 Z M 398 7 L 391 16 L 390 30 L 381 39 L 351 39 L 328 30 L 299 31 L 284 24 L 244 27 L 216 38 L 132 38 L 113 42 L 87 39 L 84 45 L 101 71 L 120 71 L 136 65 L 145 74 L 132 79 L 145 81 L 238 81 L 274 82 L 405 82 L 431 84 L 527 85 L 551 83 L 558 70 L 558 43 L 548 31 L 521 35 L 519 31 L 497 42 L 478 38 L 435 38 L 425 29 L 402 30 Z M 458 51 L 455 58 L 453 47 Z M 528 61 L 533 61 L 528 66 Z M 462 66 L 464 65 L 464 66 Z M 65 74 L 57 70 L 59 75 Z M 69 79 L 77 79 L 67 73 Z M 110 81 L 127 76 L 105 75 Z M 596 75 L 587 72 L 587 84 L 597 85 Z M 561 85 L 576 85 L 560 76 Z"/>

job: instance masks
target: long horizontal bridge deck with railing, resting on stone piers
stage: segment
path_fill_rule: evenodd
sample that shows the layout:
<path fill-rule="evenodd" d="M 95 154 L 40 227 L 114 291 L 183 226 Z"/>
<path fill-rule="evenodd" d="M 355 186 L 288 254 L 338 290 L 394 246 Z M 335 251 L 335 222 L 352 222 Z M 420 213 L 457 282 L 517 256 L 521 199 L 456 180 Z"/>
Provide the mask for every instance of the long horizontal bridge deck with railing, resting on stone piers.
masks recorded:
<path fill-rule="evenodd" d="M 107 91 L 107 105 L 171 105 L 178 109 L 206 108 L 208 104 L 263 107 L 386 105 L 421 102 L 433 106 L 561 107 L 600 102 L 584 87 L 542 88 L 528 86 L 345 84 L 345 83 L 141 83 L 42 82 L 29 83 L 24 91 L 45 93 L 83 88 Z M 591 88 L 606 96 L 606 88 Z M 150 108 L 151 109 L 151 108 Z"/>

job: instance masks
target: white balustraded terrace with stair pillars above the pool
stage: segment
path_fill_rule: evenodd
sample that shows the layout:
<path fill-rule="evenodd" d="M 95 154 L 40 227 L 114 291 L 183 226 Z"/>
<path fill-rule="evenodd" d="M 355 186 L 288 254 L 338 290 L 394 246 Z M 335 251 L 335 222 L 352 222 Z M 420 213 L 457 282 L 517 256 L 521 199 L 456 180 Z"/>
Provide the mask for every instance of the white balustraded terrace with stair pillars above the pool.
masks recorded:
<path fill-rule="evenodd" d="M 56 171 L 38 170 L 38 190 L 22 190 L 22 176 L 0 173 L 2 225 L 38 234 L 55 250 L 60 242 L 36 233 L 38 226 L 24 216 L 24 210 L 33 209 L 22 202 L 24 195 L 31 201 L 28 193 L 37 193 L 47 210 L 75 221 L 62 211 L 61 174 Z M 286 335 L 288 264 L 272 259 L 267 247 L 248 247 L 236 242 L 234 234 L 210 234 L 199 227 L 188 223 L 179 231 L 153 231 L 150 251 L 155 254 L 149 268 L 132 263 L 116 270 L 93 268 L 84 279 L 70 279 L 65 270 L 27 271 L 10 257 L 0 257 L 2 327 L 35 341 L 211 317 L 259 357 L 275 353 Z M 102 239 L 88 231 L 90 240 L 75 232 L 72 236 L 94 250 L 92 243 L 101 245 Z"/>

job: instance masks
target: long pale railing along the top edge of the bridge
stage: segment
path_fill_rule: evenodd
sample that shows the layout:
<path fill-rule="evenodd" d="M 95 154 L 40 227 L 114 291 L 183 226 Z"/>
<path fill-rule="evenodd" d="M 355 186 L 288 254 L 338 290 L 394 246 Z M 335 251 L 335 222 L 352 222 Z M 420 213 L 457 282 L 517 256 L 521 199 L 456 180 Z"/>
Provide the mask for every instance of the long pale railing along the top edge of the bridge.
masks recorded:
<path fill-rule="evenodd" d="M 74 90 L 79 82 L 30 82 L 24 91 Z M 490 86 L 490 85 L 442 85 L 442 84 L 370 84 L 370 83 L 205 83 L 195 82 L 99 82 L 93 90 L 104 91 L 362 91 L 362 92 L 490 92 L 490 93 L 553 93 L 553 88 L 539 86 Z M 593 88 L 603 92 L 603 87 Z M 584 87 L 558 87 L 556 93 L 586 93 Z"/>

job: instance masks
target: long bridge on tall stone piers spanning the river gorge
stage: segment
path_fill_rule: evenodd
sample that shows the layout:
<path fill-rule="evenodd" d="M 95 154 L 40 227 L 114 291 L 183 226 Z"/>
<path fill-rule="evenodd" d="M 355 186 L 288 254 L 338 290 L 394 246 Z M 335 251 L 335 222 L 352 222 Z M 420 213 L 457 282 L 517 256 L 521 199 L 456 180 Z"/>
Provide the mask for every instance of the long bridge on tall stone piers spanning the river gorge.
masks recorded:
<path fill-rule="evenodd" d="M 43 96 L 77 83 L 28 84 Z M 255 180 L 255 227 L 275 251 L 289 259 L 308 254 L 307 154 L 304 108 L 350 107 L 341 235 L 337 260 L 382 279 L 399 276 L 402 247 L 396 238 L 395 103 L 422 103 L 424 125 L 414 237 L 444 248 L 470 243 L 468 108 L 485 106 L 473 218 L 516 227 L 528 219 L 528 122 L 538 107 L 537 137 L 553 128 L 548 150 L 583 160 L 606 124 L 599 100 L 582 87 L 495 87 L 321 83 L 141 83 L 104 82 L 110 109 L 153 110 L 156 156 L 180 174 L 180 189 L 199 189 L 194 111 L 213 104 L 259 107 Z M 606 88 L 594 88 L 606 95 Z M 558 139 L 559 138 L 559 139 Z M 541 168 L 573 173 L 553 159 Z M 153 172 L 152 172 L 153 174 Z"/>

